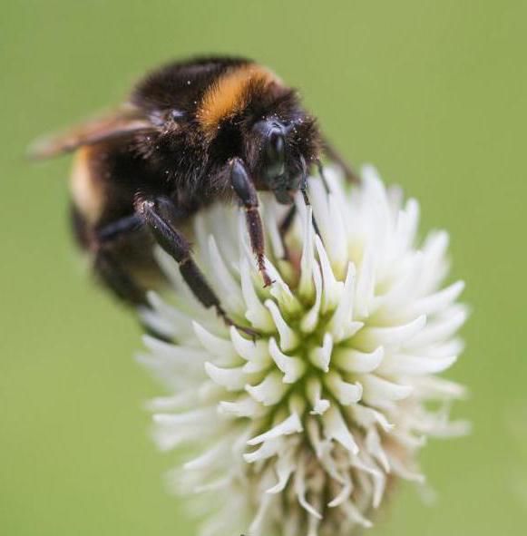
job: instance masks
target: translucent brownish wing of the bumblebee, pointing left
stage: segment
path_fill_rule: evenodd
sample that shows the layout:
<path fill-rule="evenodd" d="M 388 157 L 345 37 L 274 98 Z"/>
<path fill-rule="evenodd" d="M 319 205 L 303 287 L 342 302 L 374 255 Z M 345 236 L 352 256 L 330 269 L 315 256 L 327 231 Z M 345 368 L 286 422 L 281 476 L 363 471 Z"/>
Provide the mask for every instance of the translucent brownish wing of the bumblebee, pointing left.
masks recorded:
<path fill-rule="evenodd" d="M 32 158 L 51 158 L 74 151 L 83 145 L 130 136 L 135 132 L 149 132 L 152 123 L 137 108 L 123 107 L 113 113 L 73 127 L 62 135 L 37 141 L 30 149 Z"/>

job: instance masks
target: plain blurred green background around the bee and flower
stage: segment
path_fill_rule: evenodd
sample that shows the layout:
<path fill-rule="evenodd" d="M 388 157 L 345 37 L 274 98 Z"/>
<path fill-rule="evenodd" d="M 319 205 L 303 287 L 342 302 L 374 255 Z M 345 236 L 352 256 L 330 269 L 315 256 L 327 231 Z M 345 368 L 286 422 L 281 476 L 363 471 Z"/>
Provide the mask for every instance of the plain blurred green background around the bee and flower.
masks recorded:
<path fill-rule="evenodd" d="M 164 491 L 132 360 L 132 317 L 83 273 L 66 225 L 69 159 L 26 145 L 120 102 L 145 69 L 247 54 L 302 89 L 356 163 L 451 231 L 473 316 L 449 377 L 466 439 L 431 442 L 438 494 L 403 486 L 371 534 L 521 535 L 527 521 L 527 2 L 3 0 L 0 15 L 0 534 L 190 535 Z M 235 535 L 226 535 L 235 536 Z"/>

